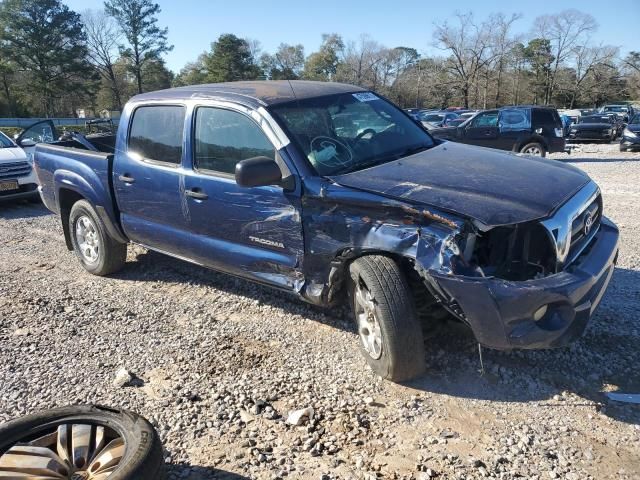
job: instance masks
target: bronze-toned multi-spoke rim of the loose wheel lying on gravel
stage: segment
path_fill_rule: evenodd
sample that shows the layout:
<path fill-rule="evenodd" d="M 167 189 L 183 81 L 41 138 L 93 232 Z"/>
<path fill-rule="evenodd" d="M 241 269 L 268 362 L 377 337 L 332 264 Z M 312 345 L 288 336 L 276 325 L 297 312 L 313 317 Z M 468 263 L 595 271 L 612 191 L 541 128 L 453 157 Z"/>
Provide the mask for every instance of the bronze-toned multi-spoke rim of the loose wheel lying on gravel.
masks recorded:
<path fill-rule="evenodd" d="M 104 480 L 117 471 L 124 452 L 124 439 L 109 428 L 64 424 L 0 456 L 0 478 Z"/>

